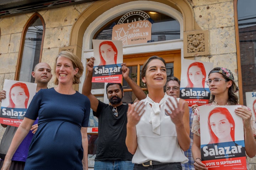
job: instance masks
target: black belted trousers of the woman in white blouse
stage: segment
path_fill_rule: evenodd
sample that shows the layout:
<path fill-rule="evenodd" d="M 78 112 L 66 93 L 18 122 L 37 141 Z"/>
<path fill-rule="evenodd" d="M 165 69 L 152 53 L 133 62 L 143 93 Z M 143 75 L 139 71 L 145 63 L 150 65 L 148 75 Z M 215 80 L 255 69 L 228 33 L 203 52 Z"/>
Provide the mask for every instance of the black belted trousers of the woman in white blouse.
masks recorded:
<path fill-rule="evenodd" d="M 146 167 L 142 164 L 135 164 L 133 170 L 182 170 L 182 166 L 181 163 L 151 165 Z"/>

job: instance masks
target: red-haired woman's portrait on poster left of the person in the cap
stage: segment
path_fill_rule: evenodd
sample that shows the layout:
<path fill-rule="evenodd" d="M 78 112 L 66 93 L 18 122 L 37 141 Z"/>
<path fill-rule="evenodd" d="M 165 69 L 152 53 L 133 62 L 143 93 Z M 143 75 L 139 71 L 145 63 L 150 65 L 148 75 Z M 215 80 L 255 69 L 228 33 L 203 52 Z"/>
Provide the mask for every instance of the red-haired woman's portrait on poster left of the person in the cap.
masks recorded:
<path fill-rule="evenodd" d="M 206 80 L 206 70 L 202 62 L 193 62 L 188 66 L 187 70 L 187 87 L 188 88 L 204 88 Z"/>

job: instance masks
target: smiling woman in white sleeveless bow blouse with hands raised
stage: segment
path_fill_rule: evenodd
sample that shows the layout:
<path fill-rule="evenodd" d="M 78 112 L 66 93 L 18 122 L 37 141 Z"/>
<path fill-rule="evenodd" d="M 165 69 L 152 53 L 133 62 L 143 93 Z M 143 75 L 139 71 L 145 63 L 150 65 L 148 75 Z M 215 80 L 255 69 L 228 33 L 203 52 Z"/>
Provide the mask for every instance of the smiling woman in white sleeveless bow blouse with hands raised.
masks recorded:
<path fill-rule="evenodd" d="M 161 57 L 151 56 L 142 67 L 148 96 L 129 105 L 126 145 L 134 154 L 134 170 L 153 168 L 181 170 L 190 147 L 189 110 L 186 102 L 164 93 L 166 66 Z"/>

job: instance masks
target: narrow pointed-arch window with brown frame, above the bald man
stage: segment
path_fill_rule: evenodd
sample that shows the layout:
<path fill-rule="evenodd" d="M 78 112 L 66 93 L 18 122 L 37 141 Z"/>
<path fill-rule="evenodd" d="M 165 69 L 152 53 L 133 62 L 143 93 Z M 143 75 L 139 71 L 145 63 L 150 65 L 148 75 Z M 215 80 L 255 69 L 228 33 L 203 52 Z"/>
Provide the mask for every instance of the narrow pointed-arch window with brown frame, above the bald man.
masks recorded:
<path fill-rule="evenodd" d="M 18 60 L 19 69 L 16 79 L 25 82 L 34 82 L 31 72 L 34 66 L 40 61 L 42 54 L 42 40 L 44 35 L 44 24 L 41 16 L 35 13 L 23 30 L 23 41 L 21 46 L 22 57 Z"/>

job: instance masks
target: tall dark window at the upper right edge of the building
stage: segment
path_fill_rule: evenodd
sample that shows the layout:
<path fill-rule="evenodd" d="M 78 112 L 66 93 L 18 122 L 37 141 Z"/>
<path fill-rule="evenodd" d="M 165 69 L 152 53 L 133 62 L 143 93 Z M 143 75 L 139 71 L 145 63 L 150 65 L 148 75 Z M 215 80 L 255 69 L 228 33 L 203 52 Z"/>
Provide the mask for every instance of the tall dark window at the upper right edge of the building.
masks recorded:
<path fill-rule="evenodd" d="M 256 3 L 238 0 L 238 30 L 242 75 L 243 104 L 246 92 L 256 91 Z M 241 88 L 240 88 L 241 89 Z"/>

